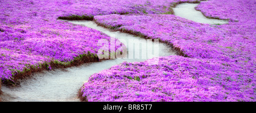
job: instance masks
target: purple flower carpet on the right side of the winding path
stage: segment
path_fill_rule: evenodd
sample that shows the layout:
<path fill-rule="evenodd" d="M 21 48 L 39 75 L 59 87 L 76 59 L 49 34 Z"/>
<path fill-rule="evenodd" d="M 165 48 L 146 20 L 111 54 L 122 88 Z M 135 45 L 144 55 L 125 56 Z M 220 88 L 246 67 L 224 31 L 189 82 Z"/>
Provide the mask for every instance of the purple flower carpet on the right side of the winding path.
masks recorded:
<path fill-rule="evenodd" d="M 92 75 L 85 101 L 255 101 L 255 1 L 201 3 L 204 15 L 229 20 L 200 24 L 174 15 L 94 16 L 107 28 L 173 45 L 187 56 L 159 64 L 122 63 Z M 152 59 L 150 59 L 152 60 Z"/>

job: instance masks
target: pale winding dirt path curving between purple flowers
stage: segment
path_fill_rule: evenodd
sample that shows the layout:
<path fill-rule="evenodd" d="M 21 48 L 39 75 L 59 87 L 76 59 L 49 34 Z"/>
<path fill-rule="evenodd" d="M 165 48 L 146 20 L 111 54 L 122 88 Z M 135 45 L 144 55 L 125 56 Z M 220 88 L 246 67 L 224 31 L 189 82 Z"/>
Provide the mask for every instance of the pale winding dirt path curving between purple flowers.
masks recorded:
<path fill-rule="evenodd" d="M 187 18 L 200 23 L 208 24 L 224 24 L 227 21 L 205 18 L 200 11 L 195 10 L 198 4 L 182 3 L 174 8 L 175 15 Z M 69 21 L 73 24 L 84 25 L 89 28 L 97 29 L 110 37 L 119 40 L 138 39 L 143 42 L 143 38 L 135 37 L 131 34 L 112 32 L 109 29 L 97 26 L 93 21 Z M 136 40 L 129 40 L 129 43 Z M 154 45 L 155 47 L 157 45 Z M 129 46 L 127 46 L 129 50 Z M 159 56 L 176 55 L 171 47 L 159 42 Z M 158 55 L 156 55 L 158 56 Z M 150 59 L 150 58 L 147 58 Z M 2 86 L 2 101 L 79 101 L 77 92 L 83 82 L 89 79 L 90 75 L 108 69 L 123 61 L 141 62 L 146 59 L 109 59 L 96 63 L 86 63 L 79 67 L 71 67 L 65 69 L 55 69 L 52 71 L 43 71 L 34 73 L 32 78 L 20 80 L 20 86 L 17 88 L 8 88 Z"/>

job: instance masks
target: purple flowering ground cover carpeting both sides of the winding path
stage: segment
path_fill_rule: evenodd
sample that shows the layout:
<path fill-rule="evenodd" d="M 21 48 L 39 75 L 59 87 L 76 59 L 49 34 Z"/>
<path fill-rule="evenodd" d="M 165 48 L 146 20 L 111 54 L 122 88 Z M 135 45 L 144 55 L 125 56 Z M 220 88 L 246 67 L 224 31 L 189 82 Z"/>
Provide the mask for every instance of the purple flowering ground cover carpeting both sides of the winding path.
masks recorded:
<path fill-rule="evenodd" d="M 198 1 L 0 1 L 1 80 L 13 81 L 31 67 L 95 58 L 97 41 L 110 37 L 57 18 L 94 19 L 159 38 L 184 55 L 160 57 L 155 66 L 122 63 L 95 73 L 81 87 L 86 101 L 255 101 L 255 1 L 212 0 L 196 7 L 210 18 L 229 19 L 226 25 L 159 15 L 173 14 L 170 7 L 182 2 Z"/>

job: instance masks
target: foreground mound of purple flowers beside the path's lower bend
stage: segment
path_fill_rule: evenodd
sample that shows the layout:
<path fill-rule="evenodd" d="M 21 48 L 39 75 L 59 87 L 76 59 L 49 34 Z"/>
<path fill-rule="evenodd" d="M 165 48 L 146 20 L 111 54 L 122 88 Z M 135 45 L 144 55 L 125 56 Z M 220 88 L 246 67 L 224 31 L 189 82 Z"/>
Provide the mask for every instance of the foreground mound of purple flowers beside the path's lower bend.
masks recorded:
<path fill-rule="evenodd" d="M 150 59 L 152 60 L 152 59 Z M 220 61 L 165 56 L 114 66 L 82 87 L 86 101 L 255 101 L 255 78 Z"/>

